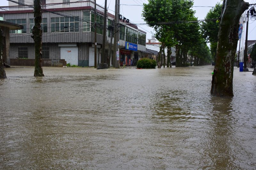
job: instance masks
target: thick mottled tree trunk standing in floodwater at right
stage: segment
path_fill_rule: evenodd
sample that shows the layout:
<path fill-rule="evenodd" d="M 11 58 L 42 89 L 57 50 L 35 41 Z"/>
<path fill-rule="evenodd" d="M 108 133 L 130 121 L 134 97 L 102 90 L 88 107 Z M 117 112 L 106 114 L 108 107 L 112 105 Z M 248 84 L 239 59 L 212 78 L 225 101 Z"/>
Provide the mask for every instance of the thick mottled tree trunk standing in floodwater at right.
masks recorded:
<path fill-rule="evenodd" d="M 234 96 L 233 71 L 238 41 L 238 23 L 249 3 L 244 0 L 224 0 L 220 15 L 220 28 L 216 63 L 212 75 L 211 94 L 214 96 Z"/>

